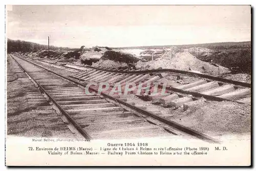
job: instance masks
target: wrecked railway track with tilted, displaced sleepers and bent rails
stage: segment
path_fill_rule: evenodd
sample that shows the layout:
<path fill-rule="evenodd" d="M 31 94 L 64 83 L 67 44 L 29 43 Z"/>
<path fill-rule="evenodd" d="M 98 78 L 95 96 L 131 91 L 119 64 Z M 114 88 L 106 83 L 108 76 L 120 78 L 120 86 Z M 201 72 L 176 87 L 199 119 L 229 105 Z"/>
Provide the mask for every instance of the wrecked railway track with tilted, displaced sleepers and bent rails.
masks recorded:
<path fill-rule="evenodd" d="M 72 68 L 72 66 L 65 65 L 63 67 Z M 182 78 L 187 76 L 198 79 L 186 84 L 176 84 L 178 81 L 172 81 L 165 87 L 166 92 L 170 93 L 170 95 L 137 94 L 137 96 L 142 100 L 153 101 L 153 104 L 166 108 L 171 107 L 177 109 L 178 107 L 183 107 L 185 110 L 189 106 L 193 106 L 201 97 L 210 101 L 232 101 L 251 105 L 251 84 L 198 74 L 191 71 L 176 69 L 118 70 L 86 66 L 85 69 L 79 69 L 79 71 L 70 77 L 85 83 L 108 82 L 112 87 L 117 83 L 125 86 L 125 83 L 130 82 L 136 84 L 137 87 L 139 84 L 143 87 L 147 83 L 157 82 L 159 84 L 158 88 L 162 89 L 163 82 L 161 80 L 164 78 L 173 79 L 174 77 Z M 150 89 L 152 90 L 153 87 L 151 86 Z"/>

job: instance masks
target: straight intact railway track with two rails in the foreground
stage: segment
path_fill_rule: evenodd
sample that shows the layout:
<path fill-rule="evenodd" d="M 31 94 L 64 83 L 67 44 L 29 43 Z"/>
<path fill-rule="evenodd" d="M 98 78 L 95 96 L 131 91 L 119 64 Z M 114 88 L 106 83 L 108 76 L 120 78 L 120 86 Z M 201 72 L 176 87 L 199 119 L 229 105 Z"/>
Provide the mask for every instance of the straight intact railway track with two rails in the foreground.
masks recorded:
<path fill-rule="evenodd" d="M 218 142 L 172 120 L 126 103 L 125 99 L 103 92 L 100 95 L 86 94 L 86 84 L 80 81 L 61 76 L 26 59 L 13 55 L 11 57 L 42 94 L 47 96 L 48 101 L 61 112 L 61 117 L 67 118 L 68 123 L 88 140 L 192 136 L 208 142 Z M 97 92 L 97 89 L 90 88 L 90 91 Z"/>

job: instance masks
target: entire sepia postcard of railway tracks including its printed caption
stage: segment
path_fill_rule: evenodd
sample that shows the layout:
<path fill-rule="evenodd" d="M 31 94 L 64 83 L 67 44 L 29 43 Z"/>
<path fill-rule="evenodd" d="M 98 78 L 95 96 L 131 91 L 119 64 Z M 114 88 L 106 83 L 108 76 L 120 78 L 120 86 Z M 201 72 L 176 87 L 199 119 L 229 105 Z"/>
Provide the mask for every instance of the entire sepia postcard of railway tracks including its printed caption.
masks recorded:
<path fill-rule="evenodd" d="M 6 165 L 250 166 L 251 8 L 6 5 Z"/>

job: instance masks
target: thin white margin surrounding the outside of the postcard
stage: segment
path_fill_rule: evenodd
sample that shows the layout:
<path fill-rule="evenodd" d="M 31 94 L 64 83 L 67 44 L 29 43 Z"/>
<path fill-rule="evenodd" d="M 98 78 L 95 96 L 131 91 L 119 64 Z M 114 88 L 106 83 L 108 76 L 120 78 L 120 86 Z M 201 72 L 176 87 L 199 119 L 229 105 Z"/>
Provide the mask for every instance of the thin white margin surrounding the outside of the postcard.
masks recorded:
<path fill-rule="evenodd" d="M 3 3 L 4 2 L 4 3 Z M 61 2 L 61 3 L 59 3 Z M 3 3 L 3 4 L 2 4 Z M 244 0 L 244 1 L 224 1 L 224 0 L 211 0 L 211 1 L 189 1 L 189 0 L 174 0 L 174 1 L 163 1 L 163 0 L 148 0 L 148 1 L 139 1 L 139 0 L 130 0 L 130 1 L 113 1 L 113 0 L 109 0 L 109 1 L 100 1 L 100 0 L 94 0 L 94 1 L 77 1 L 77 0 L 73 0 L 73 1 L 52 1 L 52 0 L 45 0 L 45 1 L 15 1 L 15 0 L 9 0 L 9 1 L 2 1 L 1 2 L 1 21 L 2 21 L 2 34 L 1 34 L 1 48 L 2 51 L 4 52 L 2 57 L 1 57 L 1 62 L 0 62 L 0 78 L 1 78 L 1 114 L 2 114 L 2 128 L 1 128 L 1 151 L 0 154 L 2 159 L 1 160 L 1 166 L 4 169 L 7 169 L 7 167 L 4 166 L 4 162 L 5 162 L 5 121 L 4 121 L 4 115 L 5 115 L 5 4 L 7 5 L 61 5 L 61 4 L 65 4 L 65 5 L 252 5 L 252 7 L 254 8 L 254 13 L 255 13 L 255 1 L 252 0 Z M 254 17 L 253 17 L 253 23 L 254 23 Z M 254 27 L 253 27 L 254 28 Z M 253 29 L 254 31 L 254 29 Z M 254 37 L 254 36 L 253 36 Z M 252 39 L 253 39 L 252 37 Z M 254 48 L 254 44 L 253 44 L 253 50 L 255 50 Z M 253 58 L 253 57 L 252 57 Z M 253 71 L 253 69 L 252 69 Z M 254 80 L 254 75 L 253 75 L 253 80 Z M 253 87 L 254 88 L 254 87 Z M 255 99 L 255 96 L 253 95 L 253 98 Z M 253 113 L 254 114 L 254 113 Z M 252 115 L 253 115 L 252 114 Z M 255 115 L 254 115 L 255 117 Z M 254 118 L 253 117 L 253 118 Z M 253 127 L 253 132 L 255 132 L 255 127 Z M 255 148 L 254 148 L 254 152 L 255 152 Z M 252 158 L 253 159 L 253 158 Z M 252 161 L 254 163 L 254 161 Z M 1 168 L 2 169 L 2 168 Z M 33 168 L 32 170 L 37 169 L 37 168 Z M 53 169 L 53 168 L 50 168 Z M 72 169 L 72 168 L 68 168 L 68 169 Z M 86 168 L 89 169 L 89 168 Z M 132 168 L 135 169 L 135 168 Z M 136 168 L 137 169 L 137 168 Z M 159 169 L 159 168 L 158 168 Z M 171 168 L 171 169 L 177 169 L 177 168 Z M 178 168 L 180 169 L 186 169 L 186 168 Z M 214 169 L 218 169 L 218 170 L 222 170 L 223 168 L 214 168 Z M 243 168 L 240 168 L 243 169 Z"/>

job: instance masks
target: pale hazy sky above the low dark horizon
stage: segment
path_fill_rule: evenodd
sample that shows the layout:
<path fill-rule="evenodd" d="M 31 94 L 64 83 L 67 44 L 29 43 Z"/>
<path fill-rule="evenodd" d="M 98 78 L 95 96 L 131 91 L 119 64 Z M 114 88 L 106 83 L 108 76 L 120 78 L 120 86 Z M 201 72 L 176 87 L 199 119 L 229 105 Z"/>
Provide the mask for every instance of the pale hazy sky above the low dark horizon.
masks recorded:
<path fill-rule="evenodd" d="M 251 40 L 250 6 L 8 6 L 7 37 L 76 47 Z"/>

